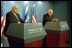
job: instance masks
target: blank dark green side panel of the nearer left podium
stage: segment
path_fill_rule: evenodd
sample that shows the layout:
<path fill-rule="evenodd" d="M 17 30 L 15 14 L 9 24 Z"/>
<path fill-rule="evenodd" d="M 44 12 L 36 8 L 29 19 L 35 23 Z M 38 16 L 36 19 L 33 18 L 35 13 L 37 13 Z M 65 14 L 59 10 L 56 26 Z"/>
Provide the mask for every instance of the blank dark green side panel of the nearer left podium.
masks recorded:
<path fill-rule="evenodd" d="M 24 39 L 24 24 L 11 23 L 6 31 L 6 35 Z"/>

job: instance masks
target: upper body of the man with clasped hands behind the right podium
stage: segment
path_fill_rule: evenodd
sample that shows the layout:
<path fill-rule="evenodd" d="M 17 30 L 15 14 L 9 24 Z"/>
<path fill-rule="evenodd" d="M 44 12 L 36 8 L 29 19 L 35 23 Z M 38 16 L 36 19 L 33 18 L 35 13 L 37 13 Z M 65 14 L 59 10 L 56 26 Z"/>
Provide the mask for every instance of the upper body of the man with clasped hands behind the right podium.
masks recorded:
<path fill-rule="evenodd" d="M 44 14 L 44 16 L 43 16 L 43 22 L 42 22 L 43 26 L 45 25 L 45 23 L 47 21 L 54 21 L 54 22 L 59 21 L 59 19 L 54 18 L 54 16 L 52 14 L 53 14 L 53 10 L 52 9 L 49 9 L 48 13 Z"/>

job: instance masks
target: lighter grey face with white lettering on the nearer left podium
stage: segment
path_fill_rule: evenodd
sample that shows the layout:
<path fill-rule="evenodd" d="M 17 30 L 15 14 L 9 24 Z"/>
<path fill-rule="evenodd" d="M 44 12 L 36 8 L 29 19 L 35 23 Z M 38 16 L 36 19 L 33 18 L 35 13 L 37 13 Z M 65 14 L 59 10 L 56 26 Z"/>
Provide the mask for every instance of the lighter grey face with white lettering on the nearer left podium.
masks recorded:
<path fill-rule="evenodd" d="M 42 23 L 28 23 L 24 24 L 24 40 L 25 44 L 38 41 L 46 36 L 46 32 Z"/>

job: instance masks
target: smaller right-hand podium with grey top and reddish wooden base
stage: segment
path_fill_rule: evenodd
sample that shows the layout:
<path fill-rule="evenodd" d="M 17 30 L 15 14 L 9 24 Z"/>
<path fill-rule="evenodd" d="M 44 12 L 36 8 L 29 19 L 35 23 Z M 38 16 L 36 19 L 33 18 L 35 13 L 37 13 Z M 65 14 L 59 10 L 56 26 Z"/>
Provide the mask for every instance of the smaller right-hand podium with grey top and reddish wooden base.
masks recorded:
<path fill-rule="evenodd" d="M 66 44 L 67 31 L 69 26 L 66 21 L 47 22 L 44 26 L 46 30 L 47 47 L 64 47 Z"/>

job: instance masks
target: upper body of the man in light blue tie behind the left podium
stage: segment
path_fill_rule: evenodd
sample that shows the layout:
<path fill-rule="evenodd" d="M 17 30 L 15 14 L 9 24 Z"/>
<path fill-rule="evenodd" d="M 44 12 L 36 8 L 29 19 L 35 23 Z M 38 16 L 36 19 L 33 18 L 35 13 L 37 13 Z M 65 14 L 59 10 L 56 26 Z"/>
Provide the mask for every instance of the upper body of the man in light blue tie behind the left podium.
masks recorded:
<path fill-rule="evenodd" d="M 12 10 L 6 14 L 6 26 L 4 30 L 5 32 L 10 23 L 24 23 L 24 20 L 21 19 L 20 15 L 17 13 L 18 9 L 19 9 L 18 5 L 13 5 Z"/>

